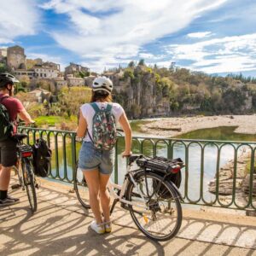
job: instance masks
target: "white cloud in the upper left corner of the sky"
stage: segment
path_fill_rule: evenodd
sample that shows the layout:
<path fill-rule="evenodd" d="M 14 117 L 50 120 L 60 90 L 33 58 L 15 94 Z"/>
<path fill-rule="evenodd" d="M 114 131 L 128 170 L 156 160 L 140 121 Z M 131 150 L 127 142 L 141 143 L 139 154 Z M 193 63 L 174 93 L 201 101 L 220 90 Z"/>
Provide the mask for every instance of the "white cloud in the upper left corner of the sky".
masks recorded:
<path fill-rule="evenodd" d="M 33 35 L 40 15 L 32 0 L 1 1 L 0 44 L 13 43 L 19 36 Z"/>

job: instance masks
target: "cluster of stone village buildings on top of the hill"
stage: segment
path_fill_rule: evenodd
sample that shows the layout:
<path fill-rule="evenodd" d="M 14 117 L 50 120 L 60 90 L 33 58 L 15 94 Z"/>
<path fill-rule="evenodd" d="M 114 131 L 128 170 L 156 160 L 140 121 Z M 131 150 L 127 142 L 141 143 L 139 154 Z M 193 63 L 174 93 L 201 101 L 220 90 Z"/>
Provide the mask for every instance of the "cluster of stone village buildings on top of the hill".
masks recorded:
<path fill-rule="evenodd" d="M 61 89 L 62 86 L 89 85 L 95 76 L 90 75 L 88 67 L 70 63 L 61 72 L 61 65 L 38 58 L 27 59 L 25 49 L 19 45 L 0 49 L 0 63 L 9 68 L 11 73 L 27 84 L 36 84 L 47 81 Z"/>

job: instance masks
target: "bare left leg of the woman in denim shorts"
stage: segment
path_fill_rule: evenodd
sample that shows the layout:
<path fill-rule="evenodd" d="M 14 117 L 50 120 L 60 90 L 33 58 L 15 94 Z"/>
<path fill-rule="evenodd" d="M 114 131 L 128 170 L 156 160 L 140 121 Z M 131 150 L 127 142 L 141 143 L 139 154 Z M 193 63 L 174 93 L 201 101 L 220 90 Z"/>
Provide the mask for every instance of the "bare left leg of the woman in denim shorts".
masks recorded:
<path fill-rule="evenodd" d="M 99 189 L 100 189 L 99 171 L 96 169 L 93 171 L 86 171 L 83 173 L 89 188 L 90 208 L 96 218 L 96 223 L 101 224 L 102 214 L 101 214 L 100 201 L 99 201 Z"/>

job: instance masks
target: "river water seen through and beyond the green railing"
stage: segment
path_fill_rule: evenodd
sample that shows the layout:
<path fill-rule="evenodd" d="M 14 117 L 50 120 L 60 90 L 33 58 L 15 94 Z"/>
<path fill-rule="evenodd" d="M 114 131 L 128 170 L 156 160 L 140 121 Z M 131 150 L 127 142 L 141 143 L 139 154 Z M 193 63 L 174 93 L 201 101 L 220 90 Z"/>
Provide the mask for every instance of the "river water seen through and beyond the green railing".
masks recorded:
<path fill-rule="evenodd" d="M 142 124 L 141 121 L 139 122 L 132 122 L 132 130 L 133 135 L 141 135 L 139 131 L 139 125 Z M 247 142 L 255 142 L 256 137 L 255 135 L 247 135 L 247 134 L 238 134 L 234 131 L 236 130 L 236 126 L 233 127 L 218 127 L 212 129 L 202 129 L 197 131 L 191 131 L 189 133 L 185 133 L 176 138 L 183 138 L 183 139 L 202 139 L 202 140 L 223 140 L 223 141 L 247 141 Z M 135 141 L 132 145 L 133 153 L 137 154 L 140 153 L 139 145 Z M 119 146 L 118 146 L 118 183 L 122 183 L 124 176 L 125 176 L 125 159 L 122 159 L 120 153 L 124 150 L 124 140 L 121 138 L 119 139 Z M 241 150 L 244 150 L 241 148 Z M 241 151 L 240 150 L 240 151 Z M 77 148 L 77 152 L 79 152 L 79 148 Z M 153 155 L 153 148 L 150 143 L 143 144 L 143 154 L 148 156 Z M 167 156 L 167 147 L 164 143 L 159 143 L 157 147 L 156 154 L 158 156 Z M 63 152 L 61 148 L 59 148 L 59 170 L 60 176 L 64 177 L 64 164 L 63 164 Z M 180 157 L 185 160 L 185 148 L 182 143 L 175 144 L 173 148 L 173 157 L 177 158 Z M 224 146 L 221 150 L 220 156 L 220 166 L 224 166 L 229 160 L 233 159 L 234 157 L 234 149 L 230 146 Z M 71 158 L 71 147 L 67 145 L 67 177 L 70 179 L 72 178 L 72 158 Z M 212 201 L 215 198 L 215 195 L 212 195 L 207 192 L 207 183 L 215 177 L 216 173 L 216 163 L 217 163 L 217 148 L 212 143 L 208 144 L 205 148 L 205 158 L 204 158 L 204 174 L 203 174 L 203 191 L 205 195 L 205 199 L 207 201 Z M 192 143 L 189 146 L 189 158 L 188 163 L 189 166 L 189 176 L 188 176 L 188 183 L 189 183 L 189 190 L 188 195 L 189 199 L 196 201 L 200 196 L 200 180 L 201 180 L 201 148 L 198 144 Z M 56 169 L 55 169 L 55 152 L 52 158 L 52 174 L 55 176 Z M 184 177 L 184 171 L 183 171 Z M 113 178 L 113 177 L 112 177 Z M 184 178 L 180 187 L 182 194 L 184 193 Z"/>

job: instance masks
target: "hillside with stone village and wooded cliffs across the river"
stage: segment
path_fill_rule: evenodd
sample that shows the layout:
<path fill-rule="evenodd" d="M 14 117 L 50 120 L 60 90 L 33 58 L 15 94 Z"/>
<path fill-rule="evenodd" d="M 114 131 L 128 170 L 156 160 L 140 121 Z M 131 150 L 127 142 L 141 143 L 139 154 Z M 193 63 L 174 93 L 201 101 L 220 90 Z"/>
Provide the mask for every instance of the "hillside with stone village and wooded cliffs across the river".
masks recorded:
<path fill-rule="evenodd" d="M 16 96 L 36 116 L 69 118 L 76 115 L 79 104 L 90 101 L 89 88 L 98 75 L 90 72 L 90 67 L 72 62 L 62 72 L 58 63 L 27 59 L 25 49 L 19 45 L 0 49 L 0 72 L 3 71 L 20 79 Z M 256 81 L 241 74 L 210 76 L 175 67 L 173 62 L 169 68 L 148 67 L 141 60 L 105 71 L 103 75 L 113 80 L 114 101 L 122 104 L 130 119 L 256 110 Z M 70 93 L 72 96 L 68 98 Z"/>

